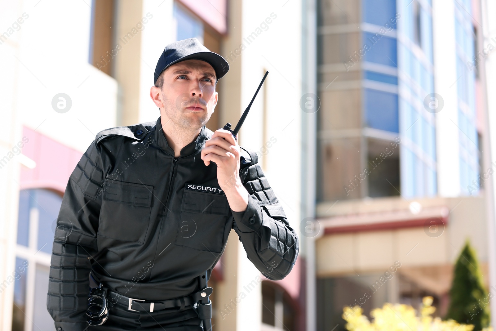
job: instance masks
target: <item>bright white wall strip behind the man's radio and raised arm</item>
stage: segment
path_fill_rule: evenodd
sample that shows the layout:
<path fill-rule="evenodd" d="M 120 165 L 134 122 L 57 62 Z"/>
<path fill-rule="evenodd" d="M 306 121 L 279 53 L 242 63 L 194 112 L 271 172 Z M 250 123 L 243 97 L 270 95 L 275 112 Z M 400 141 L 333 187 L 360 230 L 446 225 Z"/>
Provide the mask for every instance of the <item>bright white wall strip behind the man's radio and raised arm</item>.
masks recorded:
<path fill-rule="evenodd" d="M 269 71 L 264 84 L 267 90 L 267 132 L 266 137 L 277 139 L 262 156 L 266 158 L 264 170 L 277 198 L 281 202 L 291 226 L 299 232 L 300 190 L 301 190 L 301 117 L 300 98 L 302 91 L 302 3 L 301 1 L 243 1 L 242 22 L 231 21 L 238 27 L 242 24 L 242 43 L 245 49 L 241 57 L 242 94 L 241 113 L 248 106 L 263 77 L 264 69 Z M 271 17 L 276 15 L 276 18 Z M 257 32 L 260 24 L 269 17 L 272 19 L 257 37 L 249 44 L 252 32 Z M 266 22 L 265 22 L 266 23 Z M 228 23 L 229 24 L 229 23 Z M 229 24 L 230 29 L 233 27 Z M 232 50 L 233 52 L 236 49 Z M 224 56 L 230 51 L 226 50 Z M 239 53 L 239 52 L 238 52 Z M 262 87 L 263 88 L 263 87 Z M 263 92 L 260 90 L 250 113 L 240 132 L 241 144 L 260 151 L 266 141 L 262 140 Z M 232 123 L 236 125 L 237 121 Z M 262 152 L 264 150 L 262 149 Z M 259 159 L 262 164 L 262 159 Z M 300 234 L 299 234 L 300 235 Z M 301 237 L 301 236 L 300 236 Z M 239 249 L 238 292 L 258 274 L 248 261 L 244 249 Z M 258 285 L 261 286 L 261 285 Z M 251 293 L 250 293 L 251 294 Z M 248 296 L 236 308 L 237 330 L 258 330 L 256 322 L 261 321 L 261 290 L 257 295 Z M 253 307 L 257 307 L 253 311 Z M 246 314 L 251 312 L 251 314 Z"/>

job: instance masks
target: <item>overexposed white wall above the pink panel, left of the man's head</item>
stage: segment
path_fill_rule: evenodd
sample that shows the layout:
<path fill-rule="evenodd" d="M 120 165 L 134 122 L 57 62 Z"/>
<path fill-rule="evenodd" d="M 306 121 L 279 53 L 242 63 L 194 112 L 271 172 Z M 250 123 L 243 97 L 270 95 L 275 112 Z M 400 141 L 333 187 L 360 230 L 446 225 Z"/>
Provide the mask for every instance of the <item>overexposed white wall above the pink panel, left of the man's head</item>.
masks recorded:
<path fill-rule="evenodd" d="M 36 6 L 35 6 L 36 5 Z M 115 126 L 115 79 L 88 63 L 91 1 L 26 1 L 16 111 L 23 124 L 59 142 L 86 150 L 96 133 Z M 31 71 L 31 72 L 30 72 Z M 52 98 L 67 94 L 60 114 Z"/>

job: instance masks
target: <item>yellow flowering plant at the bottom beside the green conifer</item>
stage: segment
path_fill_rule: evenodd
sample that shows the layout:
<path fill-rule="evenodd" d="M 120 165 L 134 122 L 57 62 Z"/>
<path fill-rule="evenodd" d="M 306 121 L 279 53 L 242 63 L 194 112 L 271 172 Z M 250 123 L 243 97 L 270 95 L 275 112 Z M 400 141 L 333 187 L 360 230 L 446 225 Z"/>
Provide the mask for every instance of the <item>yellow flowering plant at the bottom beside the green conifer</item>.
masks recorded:
<path fill-rule="evenodd" d="M 473 325 L 460 324 L 454 320 L 442 321 L 433 318 L 435 307 L 432 306 L 433 297 L 424 297 L 417 316 L 416 310 L 409 305 L 385 303 L 382 308 L 373 309 L 370 322 L 367 316 L 362 315 L 363 309 L 359 306 L 344 307 L 343 319 L 347 322 L 349 331 L 472 331 Z M 486 328 L 484 331 L 492 331 Z"/>

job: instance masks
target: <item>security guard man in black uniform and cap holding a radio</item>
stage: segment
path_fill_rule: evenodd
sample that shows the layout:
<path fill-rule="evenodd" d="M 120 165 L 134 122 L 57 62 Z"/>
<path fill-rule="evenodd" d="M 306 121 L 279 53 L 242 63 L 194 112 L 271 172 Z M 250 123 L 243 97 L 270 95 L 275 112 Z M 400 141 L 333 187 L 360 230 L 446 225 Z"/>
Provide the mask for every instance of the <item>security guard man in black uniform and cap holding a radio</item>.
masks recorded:
<path fill-rule="evenodd" d="M 82 156 L 53 245 L 47 307 L 57 330 L 88 327 L 99 283 L 108 319 L 89 330 L 203 330 L 197 301 L 211 289 L 198 279 L 210 277 L 232 228 L 265 277 L 293 268 L 298 237 L 256 154 L 205 127 L 228 70 L 196 38 L 167 45 L 150 89 L 160 118 L 99 132 Z"/>

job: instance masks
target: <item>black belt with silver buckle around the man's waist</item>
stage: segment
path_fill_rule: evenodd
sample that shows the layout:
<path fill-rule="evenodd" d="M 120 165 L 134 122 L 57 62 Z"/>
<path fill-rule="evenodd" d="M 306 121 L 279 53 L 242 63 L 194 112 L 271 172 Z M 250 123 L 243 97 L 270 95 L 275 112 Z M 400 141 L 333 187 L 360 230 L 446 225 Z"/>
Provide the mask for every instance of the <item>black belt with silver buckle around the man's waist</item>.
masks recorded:
<path fill-rule="evenodd" d="M 196 302 L 205 297 L 208 297 L 210 294 L 212 294 L 212 291 L 213 290 L 211 287 L 206 287 L 185 297 L 157 301 L 129 298 L 110 289 L 108 290 L 108 296 L 110 298 L 110 302 L 112 302 L 113 304 L 119 303 L 127 307 L 127 310 L 134 312 L 152 313 L 155 311 L 176 307 L 179 308 L 178 310 L 183 310 L 185 306 L 193 306 Z"/>

